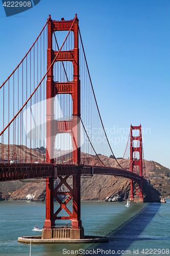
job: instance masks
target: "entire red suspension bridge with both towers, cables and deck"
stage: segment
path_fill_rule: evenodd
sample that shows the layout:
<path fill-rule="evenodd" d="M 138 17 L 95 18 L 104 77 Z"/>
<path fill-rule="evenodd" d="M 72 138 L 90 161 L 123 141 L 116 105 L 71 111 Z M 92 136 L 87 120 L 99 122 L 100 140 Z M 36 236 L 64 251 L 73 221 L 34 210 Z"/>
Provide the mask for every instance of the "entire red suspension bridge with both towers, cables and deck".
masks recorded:
<path fill-rule="evenodd" d="M 60 48 L 57 33 L 65 37 Z M 123 167 L 125 154 L 121 161 L 116 160 L 105 132 L 77 14 L 72 20 L 48 17 L 30 50 L 0 87 L 0 97 L 0 181 L 46 179 L 42 238 L 57 238 L 56 220 L 71 221 L 71 238 L 84 237 L 81 175 L 128 178 L 130 200 L 143 201 L 142 183 L 147 180 L 142 172 L 141 125 L 131 125 L 130 165 Z M 134 136 L 135 130 L 138 136 Z M 115 159 L 114 167 L 106 157 L 110 155 Z M 72 186 L 67 184 L 69 176 Z M 54 188 L 57 177 L 60 183 Z M 67 191 L 58 191 L 62 185 Z M 66 195 L 67 199 L 62 202 L 59 195 Z M 56 212 L 54 198 L 60 204 Z M 67 208 L 70 200 L 72 212 Z M 62 209 L 68 216 L 58 216 Z"/>

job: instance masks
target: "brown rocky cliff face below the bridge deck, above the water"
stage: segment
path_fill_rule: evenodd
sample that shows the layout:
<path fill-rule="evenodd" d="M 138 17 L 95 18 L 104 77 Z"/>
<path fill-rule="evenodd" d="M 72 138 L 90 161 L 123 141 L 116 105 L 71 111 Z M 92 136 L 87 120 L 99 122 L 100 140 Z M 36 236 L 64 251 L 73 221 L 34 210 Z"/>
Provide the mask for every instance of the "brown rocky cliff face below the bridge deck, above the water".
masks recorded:
<path fill-rule="evenodd" d="M 19 182 L 19 181 L 17 181 Z M 67 179 L 71 186 L 72 177 Z M 10 182 L 9 182 L 10 183 Z M 13 181 L 13 183 L 15 183 Z M 45 180 L 35 180 L 31 182 L 21 182 L 21 187 L 13 193 L 5 191 L 1 195 L 0 200 L 45 200 Z M 55 180 L 55 186 L 59 183 L 59 179 Z M 59 191 L 67 191 L 64 186 Z M 7 194 L 8 192 L 8 194 Z M 152 187 L 144 185 L 144 198 L 147 202 L 158 202 L 159 193 Z M 130 197 L 130 180 L 125 178 L 116 178 L 107 175 L 94 175 L 93 177 L 81 178 L 81 200 L 101 200 L 101 201 L 125 201 Z M 64 199 L 64 198 L 63 198 Z"/>

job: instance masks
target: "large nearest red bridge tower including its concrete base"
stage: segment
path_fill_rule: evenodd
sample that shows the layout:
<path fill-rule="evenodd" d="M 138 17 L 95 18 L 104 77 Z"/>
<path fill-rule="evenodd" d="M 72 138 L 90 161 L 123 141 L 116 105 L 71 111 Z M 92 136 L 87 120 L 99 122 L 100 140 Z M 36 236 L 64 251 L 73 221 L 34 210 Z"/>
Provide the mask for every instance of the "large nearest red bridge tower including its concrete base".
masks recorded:
<path fill-rule="evenodd" d="M 74 24 L 73 24 L 74 23 Z M 54 189 L 54 178 L 46 179 L 46 216 L 44 228 L 42 230 L 43 239 L 63 238 L 63 239 L 80 239 L 84 237 L 80 216 L 80 181 L 81 168 L 80 164 L 80 74 L 79 74 L 79 19 L 77 14 L 74 20 L 56 21 L 51 18 L 48 20 L 48 49 L 47 49 L 47 69 L 51 66 L 54 56 L 57 56 L 55 61 L 71 61 L 73 65 L 73 80 L 68 82 L 56 82 L 53 80 L 53 66 L 47 73 L 46 81 L 46 99 L 54 99 L 57 94 L 70 94 L 72 96 L 72 120 L 52 122 L 54 116 L 54 100 L 46 105 L 46 162 L 54 163 L 54 135 L 65 133 L 69 127 L 68 133 L 72 138 L 73 152 L 72 160 L 77 166 L 77 172 L 72 175 L 72 187 L 66 180 L 69 175 L 62 177 L 58 176 L 60 183 Z M 73 25 L 72 25 L 73 24 Z M 74 33 L 74 49 L 70 51 L 54 51 L 52 48 L 52 35 L 55 31 L 71 31 Z M 62 90 L 61 90 L 62 89 Z M 52 118 L 51 118 L 52 117 Z M 55 165 L 54 165 L 55 166 Z M 57 178 L 57 167 L 55 169 L 55 178 Z M 62 185 L 67 187 L 67 191 L 57 191 Z M 65 202 L 62 202 L 58 195 L 69 195 Z M 54 213 L 54 198 L 59 202 L 60 207 Z M 66 207 L 66 204 L 72 199 L 72 212 Z M 59 212 L 64 209 L 69 216 L 60 217 Z M 55 220 L 71 220 L 71 228 L 57 228 Z"/>

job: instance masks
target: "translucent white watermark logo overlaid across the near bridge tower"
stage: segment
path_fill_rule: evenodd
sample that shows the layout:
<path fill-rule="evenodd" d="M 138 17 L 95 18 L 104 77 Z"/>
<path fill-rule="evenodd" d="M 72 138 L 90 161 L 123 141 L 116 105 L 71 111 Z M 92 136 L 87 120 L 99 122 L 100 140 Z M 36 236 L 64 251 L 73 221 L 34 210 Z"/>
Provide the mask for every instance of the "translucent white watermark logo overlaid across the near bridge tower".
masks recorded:
<path fill-rule="evenodd" d="M 46 108 L 52 106 L 53 115 L 46 114 Z M 50 98 L 31 105 L 23 112 L 23 123 L 27 138 L 45 144 L 51 159 L 70 154 L 84 143 L 83 126 L 77 116 L 64 116 L 58 98 Z M 50 137 L 46 129 L 51 129 Z M 80 136 L 79 136 L 80 133 Z M 51 148 L 53 141 L 54 148 Z"/>

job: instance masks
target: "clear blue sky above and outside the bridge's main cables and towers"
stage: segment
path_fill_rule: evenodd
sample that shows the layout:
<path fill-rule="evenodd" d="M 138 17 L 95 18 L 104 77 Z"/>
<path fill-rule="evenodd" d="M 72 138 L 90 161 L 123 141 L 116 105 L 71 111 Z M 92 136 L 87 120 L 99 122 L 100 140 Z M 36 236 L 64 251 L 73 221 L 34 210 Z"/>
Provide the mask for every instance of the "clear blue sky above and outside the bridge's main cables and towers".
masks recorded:
<path fill-rule="evenodd" d="M 41 0 L 34 8 L 10 17 L 1 2 L 0 83 L 30 49 L 49 14 L 60 20 L 62 16 L 72 19 L 75 13 L 115 156 L 123 156 L 125 150 L 122 136 L 128 135 L 123 129 L 126 132 L 130 124 L 141 123 L 144 158 L 170 168 L 169 0 Z M 115 134 L 111 134 L 114 127 Z"/>

